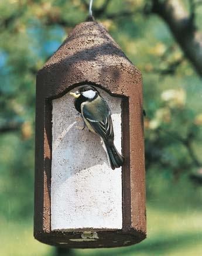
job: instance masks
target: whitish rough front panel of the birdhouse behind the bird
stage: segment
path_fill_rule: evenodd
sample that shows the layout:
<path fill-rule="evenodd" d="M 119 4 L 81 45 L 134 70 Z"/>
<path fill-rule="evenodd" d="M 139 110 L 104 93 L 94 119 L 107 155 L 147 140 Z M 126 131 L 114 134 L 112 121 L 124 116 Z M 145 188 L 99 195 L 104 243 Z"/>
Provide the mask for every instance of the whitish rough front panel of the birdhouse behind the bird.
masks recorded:
<path fill-rule="evenodd" d="M 76 91 L 76 88 L 72 91 Z M 121 98 L 104 90 L 121 152 Z M 112 170 L 98 135 L 83 127 L 69 94 L 53 100 L 51 228 L 122 228 L 121 169 Z"/>

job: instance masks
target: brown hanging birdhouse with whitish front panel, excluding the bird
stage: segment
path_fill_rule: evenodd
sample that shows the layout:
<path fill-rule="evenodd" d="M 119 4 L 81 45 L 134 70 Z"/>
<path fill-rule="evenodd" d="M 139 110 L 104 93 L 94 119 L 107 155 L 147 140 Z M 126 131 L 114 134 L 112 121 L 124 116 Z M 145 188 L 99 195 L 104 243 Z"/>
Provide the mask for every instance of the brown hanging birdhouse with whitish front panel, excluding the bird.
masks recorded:
<path fill-rule="evenodd" d="M 124 164 L 83 129 L 71 92 L 96 88 Z M 35 238 L 60 247 L 119 247 L 146 237 L 141 73 L 107 30 L 80 23 L 36 81 Z"/>

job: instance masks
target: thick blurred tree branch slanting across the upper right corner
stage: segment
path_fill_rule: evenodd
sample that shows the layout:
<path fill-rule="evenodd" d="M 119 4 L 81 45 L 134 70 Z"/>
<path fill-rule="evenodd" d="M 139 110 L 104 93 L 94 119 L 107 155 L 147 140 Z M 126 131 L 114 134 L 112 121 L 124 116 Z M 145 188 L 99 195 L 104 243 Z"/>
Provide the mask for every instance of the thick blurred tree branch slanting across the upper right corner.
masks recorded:
<path fill-rule="evenodd" d="M 202 76 L 202 33 L 193 22 L 193 14 L 184 9 L 180 0 L 152 0 L 152 12 L 169 26 L 185 56 Z"/>

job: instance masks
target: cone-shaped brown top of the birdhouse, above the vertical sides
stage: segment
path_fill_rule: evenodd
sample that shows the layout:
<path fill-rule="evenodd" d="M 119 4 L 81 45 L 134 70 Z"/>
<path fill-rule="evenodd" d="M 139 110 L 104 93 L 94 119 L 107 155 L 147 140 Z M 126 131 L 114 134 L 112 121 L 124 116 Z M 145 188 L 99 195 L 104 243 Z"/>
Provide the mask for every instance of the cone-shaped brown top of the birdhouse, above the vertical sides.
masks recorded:
<path fill-rule="evenodd" d="M 114 64 L 122 62 L 126 66 L 133 66 L 101 23 L 82 22 L 70 32 L 44 67 L 56 63 L 76 64 L 82 61 L 95 61 L 103 65 L 108 59 Z M 108 64 L 110 66 L 110 63 Z"/>

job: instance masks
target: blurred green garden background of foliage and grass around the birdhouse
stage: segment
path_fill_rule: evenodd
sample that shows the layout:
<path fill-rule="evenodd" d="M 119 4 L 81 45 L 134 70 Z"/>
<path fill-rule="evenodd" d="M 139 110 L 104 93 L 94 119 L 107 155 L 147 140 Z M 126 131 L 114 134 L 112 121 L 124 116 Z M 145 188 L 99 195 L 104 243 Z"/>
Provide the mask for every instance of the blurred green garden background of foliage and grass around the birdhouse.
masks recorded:
<path fill-rule="evenodd" d="M 0 2 L 0 254 L 202 255 L 202 3 L 94 0 L 142 71 L 148 238 L 62 252 L 33 238 L 35 79 L 88 15 L 81 0 Z"/>

